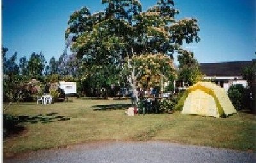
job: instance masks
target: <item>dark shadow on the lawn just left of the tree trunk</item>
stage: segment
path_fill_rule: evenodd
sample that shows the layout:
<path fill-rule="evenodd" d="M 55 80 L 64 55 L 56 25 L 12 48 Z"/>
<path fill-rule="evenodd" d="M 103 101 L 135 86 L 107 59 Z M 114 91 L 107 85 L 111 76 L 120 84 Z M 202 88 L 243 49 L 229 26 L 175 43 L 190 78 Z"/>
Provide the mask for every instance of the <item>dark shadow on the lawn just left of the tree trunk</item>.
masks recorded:
<path fill-rule="evenodd" d="M 108 105 L 94 105 L 94 111 L 112 111 L 112 110 L 125 110 L 131 107 L 132 104 L 108 104 Z"/>

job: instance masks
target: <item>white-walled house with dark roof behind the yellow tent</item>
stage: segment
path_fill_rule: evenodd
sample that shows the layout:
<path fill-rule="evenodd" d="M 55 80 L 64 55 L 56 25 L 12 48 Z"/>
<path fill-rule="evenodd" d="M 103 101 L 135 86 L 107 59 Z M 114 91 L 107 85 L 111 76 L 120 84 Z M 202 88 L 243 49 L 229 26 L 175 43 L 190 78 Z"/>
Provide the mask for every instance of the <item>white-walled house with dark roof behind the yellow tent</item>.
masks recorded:
<path fill-rule="evenodd" d="M 252 61 L 230 61 L 220 63 L 200 63 L 200 70 L 204 74 L 205 80 L 211 80 L 226 91 L 233 84 L 243 84 L 248 87 L 248 83 L 243 79 L 243 68 L 253 64 Z"/>

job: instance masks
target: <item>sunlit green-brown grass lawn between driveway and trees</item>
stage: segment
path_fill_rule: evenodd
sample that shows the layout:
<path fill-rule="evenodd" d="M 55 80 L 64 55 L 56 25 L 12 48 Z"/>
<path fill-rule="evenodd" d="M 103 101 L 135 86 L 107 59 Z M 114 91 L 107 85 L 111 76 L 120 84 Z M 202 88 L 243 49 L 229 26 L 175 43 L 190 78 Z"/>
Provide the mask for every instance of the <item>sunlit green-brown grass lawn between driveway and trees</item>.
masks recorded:
<path fill-rule="evenodd" d="M 228 118 L 146 114 L 126 116 L 130 100 L 82 100 L 51 105 L 12 104 L 4 114 L 20 116 L 24 130 L 3 139 L 4 156 L 101 140 L 163 140 L 215 148 L 256 150 L 256 116 Z"/>

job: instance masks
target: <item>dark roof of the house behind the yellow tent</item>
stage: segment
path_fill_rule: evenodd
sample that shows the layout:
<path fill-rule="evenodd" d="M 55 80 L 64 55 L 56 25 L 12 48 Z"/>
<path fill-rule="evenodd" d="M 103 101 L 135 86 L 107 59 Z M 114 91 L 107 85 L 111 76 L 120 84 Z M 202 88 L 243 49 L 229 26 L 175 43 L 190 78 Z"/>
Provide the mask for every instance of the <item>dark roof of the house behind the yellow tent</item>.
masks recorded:
<path fill-rule="evenodd" d="M 252 63 L 252 61 L 200 63 L 200 70 L 206 76 L 242 76 L 243 68 L 252 65 Z"/>

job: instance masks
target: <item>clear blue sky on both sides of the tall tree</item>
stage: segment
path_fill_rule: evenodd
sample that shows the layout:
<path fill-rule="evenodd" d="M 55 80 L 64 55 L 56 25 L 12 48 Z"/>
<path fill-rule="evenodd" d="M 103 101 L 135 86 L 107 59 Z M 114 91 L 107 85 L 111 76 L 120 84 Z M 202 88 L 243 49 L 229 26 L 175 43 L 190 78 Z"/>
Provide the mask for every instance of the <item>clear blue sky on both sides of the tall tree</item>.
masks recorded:
<path fill-rule="evenodd" d="M 141 0 L 143 10 L 157 0 Z M 104 10 L 100 0 L 3 0 L 2 46 L 8 56 L 42 52 L 49 61 L 62 54 L 70 15 L 83 6 L 92 13 Z M 256 58 L 255 0 L 176 0 L 177 20 L 195 17 L 199 43 L 185 45 L 199 62 L 252 60 Z"/>

